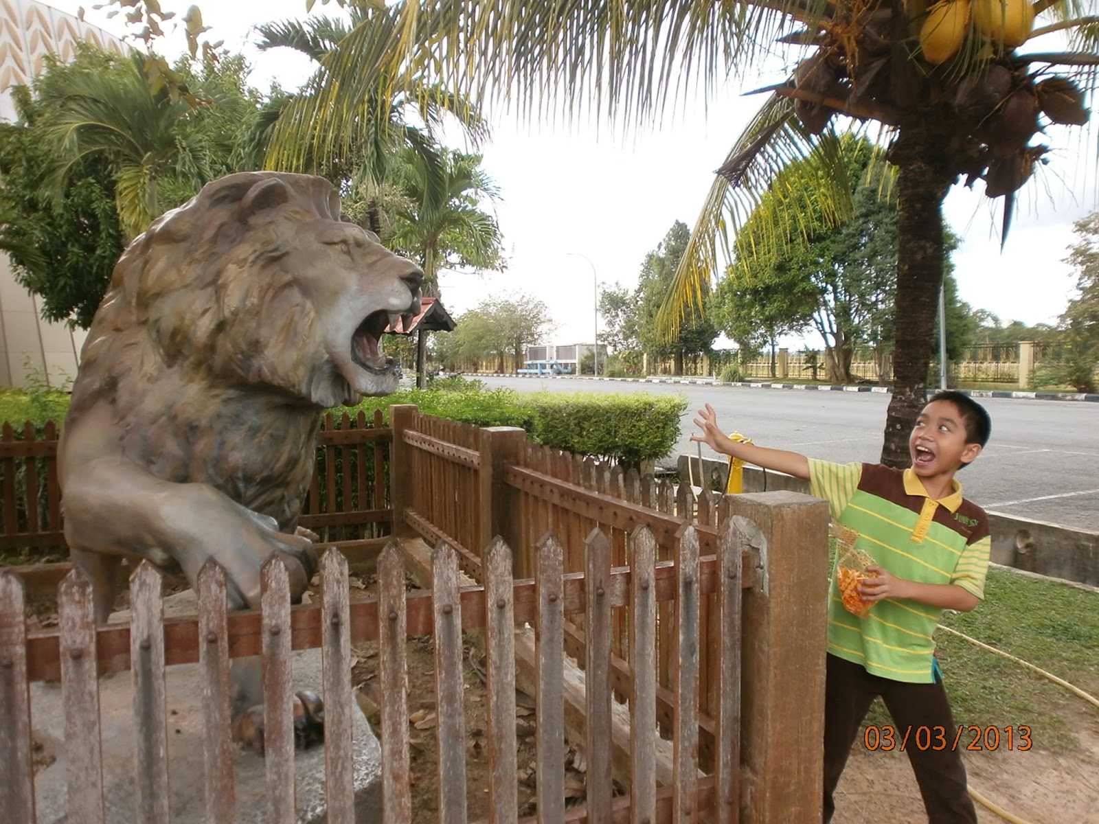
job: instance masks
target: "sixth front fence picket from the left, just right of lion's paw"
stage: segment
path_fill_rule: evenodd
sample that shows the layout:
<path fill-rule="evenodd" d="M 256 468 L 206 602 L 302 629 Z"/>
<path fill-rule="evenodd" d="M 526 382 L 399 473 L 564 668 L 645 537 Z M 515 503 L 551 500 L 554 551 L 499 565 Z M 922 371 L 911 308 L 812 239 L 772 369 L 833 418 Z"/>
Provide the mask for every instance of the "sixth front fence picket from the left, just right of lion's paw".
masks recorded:
<path fill-rule="evenodd" d="M 324 694 L 324 799 L 329 821 L 355 820 L 352 751 L 351 605 L 347 559 L 329 548 L 321 557 L 321 611 L 328 626 L 321 644 Z"/>

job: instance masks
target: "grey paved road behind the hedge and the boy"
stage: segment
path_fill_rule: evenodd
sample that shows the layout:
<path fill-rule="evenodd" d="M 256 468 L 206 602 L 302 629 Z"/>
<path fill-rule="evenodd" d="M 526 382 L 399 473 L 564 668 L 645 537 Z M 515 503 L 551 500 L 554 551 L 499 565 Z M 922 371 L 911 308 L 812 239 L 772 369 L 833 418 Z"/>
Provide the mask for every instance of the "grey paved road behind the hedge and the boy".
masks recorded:
<path fill-rule="evenodd" d="M 889 396 L 878 392 L 804 392 L 746 387 L 482 378 L 518 391 L 652 392 L 688 400 L 674 454 L 695 454 L 695 410 L 709 402 L 725 431 L 763 446 L 825 460 L 877 460 Z M 983 399 L 992 437 L 958 479 L 975 503 L 996 512 L 1099 532 L 1099 403 Z M 708 447 L 702 447 L 703 456 Z"/>

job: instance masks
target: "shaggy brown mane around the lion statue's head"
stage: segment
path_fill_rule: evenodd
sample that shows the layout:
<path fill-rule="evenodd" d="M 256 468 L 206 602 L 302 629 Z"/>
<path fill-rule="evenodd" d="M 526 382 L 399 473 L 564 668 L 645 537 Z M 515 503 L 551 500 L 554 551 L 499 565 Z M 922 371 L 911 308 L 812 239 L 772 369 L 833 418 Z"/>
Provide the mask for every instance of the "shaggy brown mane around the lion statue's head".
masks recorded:
<path fill-rule="evenodd" d="M 273 177 L 290 190 L 267 204 Z M 243 172 L 158 218 L 120 258 L 85 343 L 70 419 L 97 400 L 126 419 L 165 370 L 308 399 L 321 363 L 318 319 L 278 261 L 311 220 L 340 221 L 323 178 Z"/>

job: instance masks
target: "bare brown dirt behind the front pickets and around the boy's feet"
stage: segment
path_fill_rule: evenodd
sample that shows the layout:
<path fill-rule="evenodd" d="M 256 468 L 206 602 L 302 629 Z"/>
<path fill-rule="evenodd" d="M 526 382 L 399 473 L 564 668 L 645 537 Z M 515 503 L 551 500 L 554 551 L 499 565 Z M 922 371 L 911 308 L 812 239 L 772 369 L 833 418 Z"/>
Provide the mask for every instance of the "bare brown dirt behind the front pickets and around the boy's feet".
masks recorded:
<path fill-rule="evenodd" d="M 364 591 L 373 580 L 363 577 Z M 409 584 L 412 586 L 411 583 Z M 360 594 L 360 593 L 354 593 Z M 358 662 L 353 683 L 368 716 L 376 711 L 371 686 L 377 671 L 376 645 L 355 649 Z M 409 712 L 412 738 L 412 809 L 415 824 L 435 821 L 436 749 L 434 716 L 434 652 L 431 638 L 409 642 Z M 492 780 L 485 753 L 486 705 L 482 666 L 474 648 L 466 647 L 466 779 L 470 821 L 488 814 L 488 787 Z M 1076 706 L 1076 704 L 1074 704 Z M 517 694 L 515 726 L 519 742 L 519 814 L 533 815 L 534 804 L 534 702 Z M 1053 754 L 1035 744 L 1026 751 L 966 753 L 969 786 L 993 805 L 1026 824 L 1099 824 L 1099 712 L 1084 701 L 1066 722 L 1080 741 L 1078 751 Z M 371 723 L 377 730 L 377 717 Z M 584 802 L 585 759 L 571 746 L 566 755 L 566 792 L 569 804 Z M 615 787 L 615 794 L 621 788 Z M 1010 821 L 992 810 L 977 806 L 980 824 Z M 919 789 L 902 753 L 868 751 L 859 742 L 852 751 L 836 795 L 834 824 L 924 824 L 926 814 Z"/>

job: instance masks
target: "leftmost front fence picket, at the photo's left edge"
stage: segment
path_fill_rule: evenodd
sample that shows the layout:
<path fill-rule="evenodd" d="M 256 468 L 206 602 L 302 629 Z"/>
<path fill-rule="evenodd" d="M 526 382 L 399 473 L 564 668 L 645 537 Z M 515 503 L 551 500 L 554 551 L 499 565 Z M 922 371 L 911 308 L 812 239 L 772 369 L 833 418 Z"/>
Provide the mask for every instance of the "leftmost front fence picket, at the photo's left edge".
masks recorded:
<path fill-rule="evenodd" d="M 19 576 L 0 572 L 0 764 L 4 772 L 0 781 L 0 809 L 12 821 L 34 821 L 23 604 L 23 582 Z"/>

